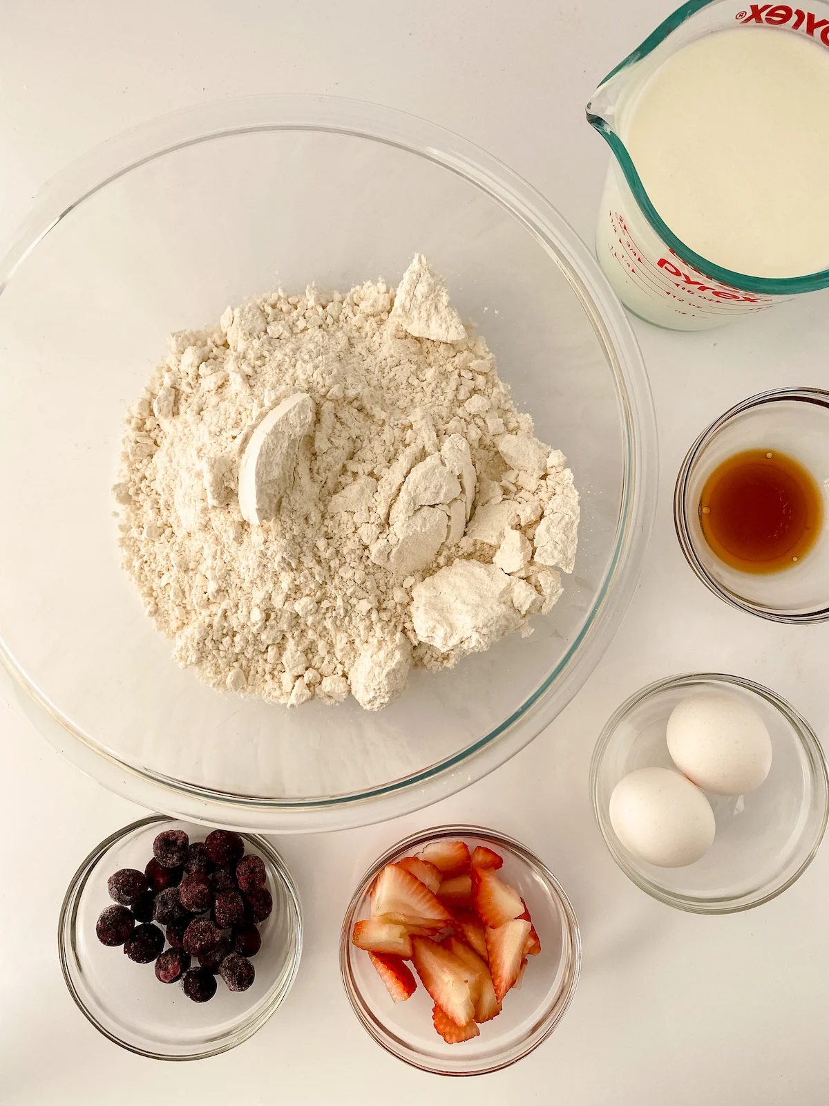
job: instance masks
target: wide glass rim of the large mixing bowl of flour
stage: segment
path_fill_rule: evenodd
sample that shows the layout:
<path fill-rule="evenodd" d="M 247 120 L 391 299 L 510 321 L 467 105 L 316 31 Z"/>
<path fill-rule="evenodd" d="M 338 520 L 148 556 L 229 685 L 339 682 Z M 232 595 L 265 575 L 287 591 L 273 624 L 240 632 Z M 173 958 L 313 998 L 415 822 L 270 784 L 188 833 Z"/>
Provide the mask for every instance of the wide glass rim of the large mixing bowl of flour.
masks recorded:
<path fill-rule="evenodd" d="M 44 187 L 0 261 L 0 294 L 38 242 L 112 181 L 188 146 L 270 131 L 345 134 L 423 157 L 515 218 L 559 268 L 592 326 L 615 379 L 625 455 L 620 510 L 605 576 L 584 625 L 555 669 L 510 717 L 465 749 L 363 791 L 300 799 L 251 796 L 176 780 L 122 760 L 50 701 L 18 665 L 0 632 L 0 660 L 25 692 L 18 696 L 23 710 L 59 751 L 105 786 L 150 810 L 193 822 L 250 832 L 307 833 L 397 817 L 445 797 L 499 768 L 564 709 L 598 664 L 636 588 L 655 512 L 658 446 L 650 385 L 630 323 L 595 258 L 568 223 L 535 188 L 480 147 L 377 104 L 318 95 L 237 97 L 160 116 L 108 139 Z M 553 685 L 555 696 L 548 693 Z"/>

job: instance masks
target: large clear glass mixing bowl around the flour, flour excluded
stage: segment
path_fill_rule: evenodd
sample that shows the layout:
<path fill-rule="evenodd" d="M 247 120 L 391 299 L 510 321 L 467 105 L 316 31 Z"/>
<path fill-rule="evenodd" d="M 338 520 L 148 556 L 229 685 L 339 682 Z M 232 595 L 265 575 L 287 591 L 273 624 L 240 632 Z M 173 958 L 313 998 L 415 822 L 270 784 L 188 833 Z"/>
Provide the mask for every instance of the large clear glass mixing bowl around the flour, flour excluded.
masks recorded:
<path fill-rule="evenodd" d="M 298 710 L 171 659 L 119 564 L 122 425 L 168 331 L 309 281 L 395 282 L 416 251 L 487 337 L 581 493 L 575 573 L 529 638 L 392 707 Z M 49 188 L 0 265 L 0 656 L 34 724 L 149 810 L 265 832 L 361 825 L 492 771 L 580 687 L 636 586 L 657 444 L 630 326 L 557 212 L 431 124 L 326 97 L 221 102 L 115 138 Z"/>

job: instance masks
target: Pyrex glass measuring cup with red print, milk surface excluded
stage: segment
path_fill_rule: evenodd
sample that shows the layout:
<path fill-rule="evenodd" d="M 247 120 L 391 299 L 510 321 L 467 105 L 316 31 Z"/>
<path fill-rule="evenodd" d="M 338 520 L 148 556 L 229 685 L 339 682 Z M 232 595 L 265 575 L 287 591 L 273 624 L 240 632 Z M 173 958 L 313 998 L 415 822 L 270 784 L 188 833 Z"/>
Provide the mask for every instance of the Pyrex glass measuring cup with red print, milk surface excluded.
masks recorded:
<path fill-rule="evenodd" d="M 588 122 L 613 153 L 599 210 L 596 252 L 621 301 L 660 326 L 718 326 L 800 292 L 829 286 L 829 269 L 780 279 L 751 276 L 695 253 L 660 217 L 625 145 L 626 123 L 639 92 L 671 54 L 715 31 L 757 24 L 779 33 L 809 35 L 829 49 L 826 0 L 808 0 L 808 10 L 739 0 L 689 0 L 605 77 L 587 105 Z"/>

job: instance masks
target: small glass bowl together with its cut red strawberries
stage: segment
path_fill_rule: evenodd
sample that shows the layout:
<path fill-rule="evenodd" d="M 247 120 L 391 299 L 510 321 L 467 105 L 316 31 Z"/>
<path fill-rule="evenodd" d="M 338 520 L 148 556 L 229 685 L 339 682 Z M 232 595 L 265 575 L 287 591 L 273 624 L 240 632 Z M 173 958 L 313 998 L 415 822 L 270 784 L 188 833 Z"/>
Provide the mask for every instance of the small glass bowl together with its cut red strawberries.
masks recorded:
<path fill-rule="evenodd" d="M 437 1075 L 483 1075 L 556 1027 L 578 982 L 569 899 L 518 842 L 438 826 L 393 845 L 355 891 L 339 967 L 367 1032 Z"/>

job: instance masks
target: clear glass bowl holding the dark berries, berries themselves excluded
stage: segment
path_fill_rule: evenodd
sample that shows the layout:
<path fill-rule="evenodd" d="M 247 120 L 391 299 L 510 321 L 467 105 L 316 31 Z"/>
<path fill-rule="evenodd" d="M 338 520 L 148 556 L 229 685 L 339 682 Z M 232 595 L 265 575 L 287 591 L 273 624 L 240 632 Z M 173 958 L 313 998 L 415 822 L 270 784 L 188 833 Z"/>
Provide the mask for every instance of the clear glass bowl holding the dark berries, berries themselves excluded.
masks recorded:
<path fill-rule="evenodd" d="M 144 868 L 161 830 L 185 830 L 203 841 L 203 826 L 153 815 L 107 837 L 72 877 L 57 925 L 63 978 L 80 1010 L 104 1036 L 151 1060 L 202 1060 L 234 1048 L 282 1004 L 296 979 L 302 956 L 302 912 L 291 874 L 262 837 L 244 836 L 267 870 L 271 915 L 260 924 L 262 948 L 251 961 L 253 984 L 232 993 L 219 981 L 204 1003 L 188 999 L 178 983 L 160 983 L 151 963 L 137 964 L 122 947 L 107 948 L 95 936 L 101 911 L 113 905 L 106 889 L 119 868 Z"/>

